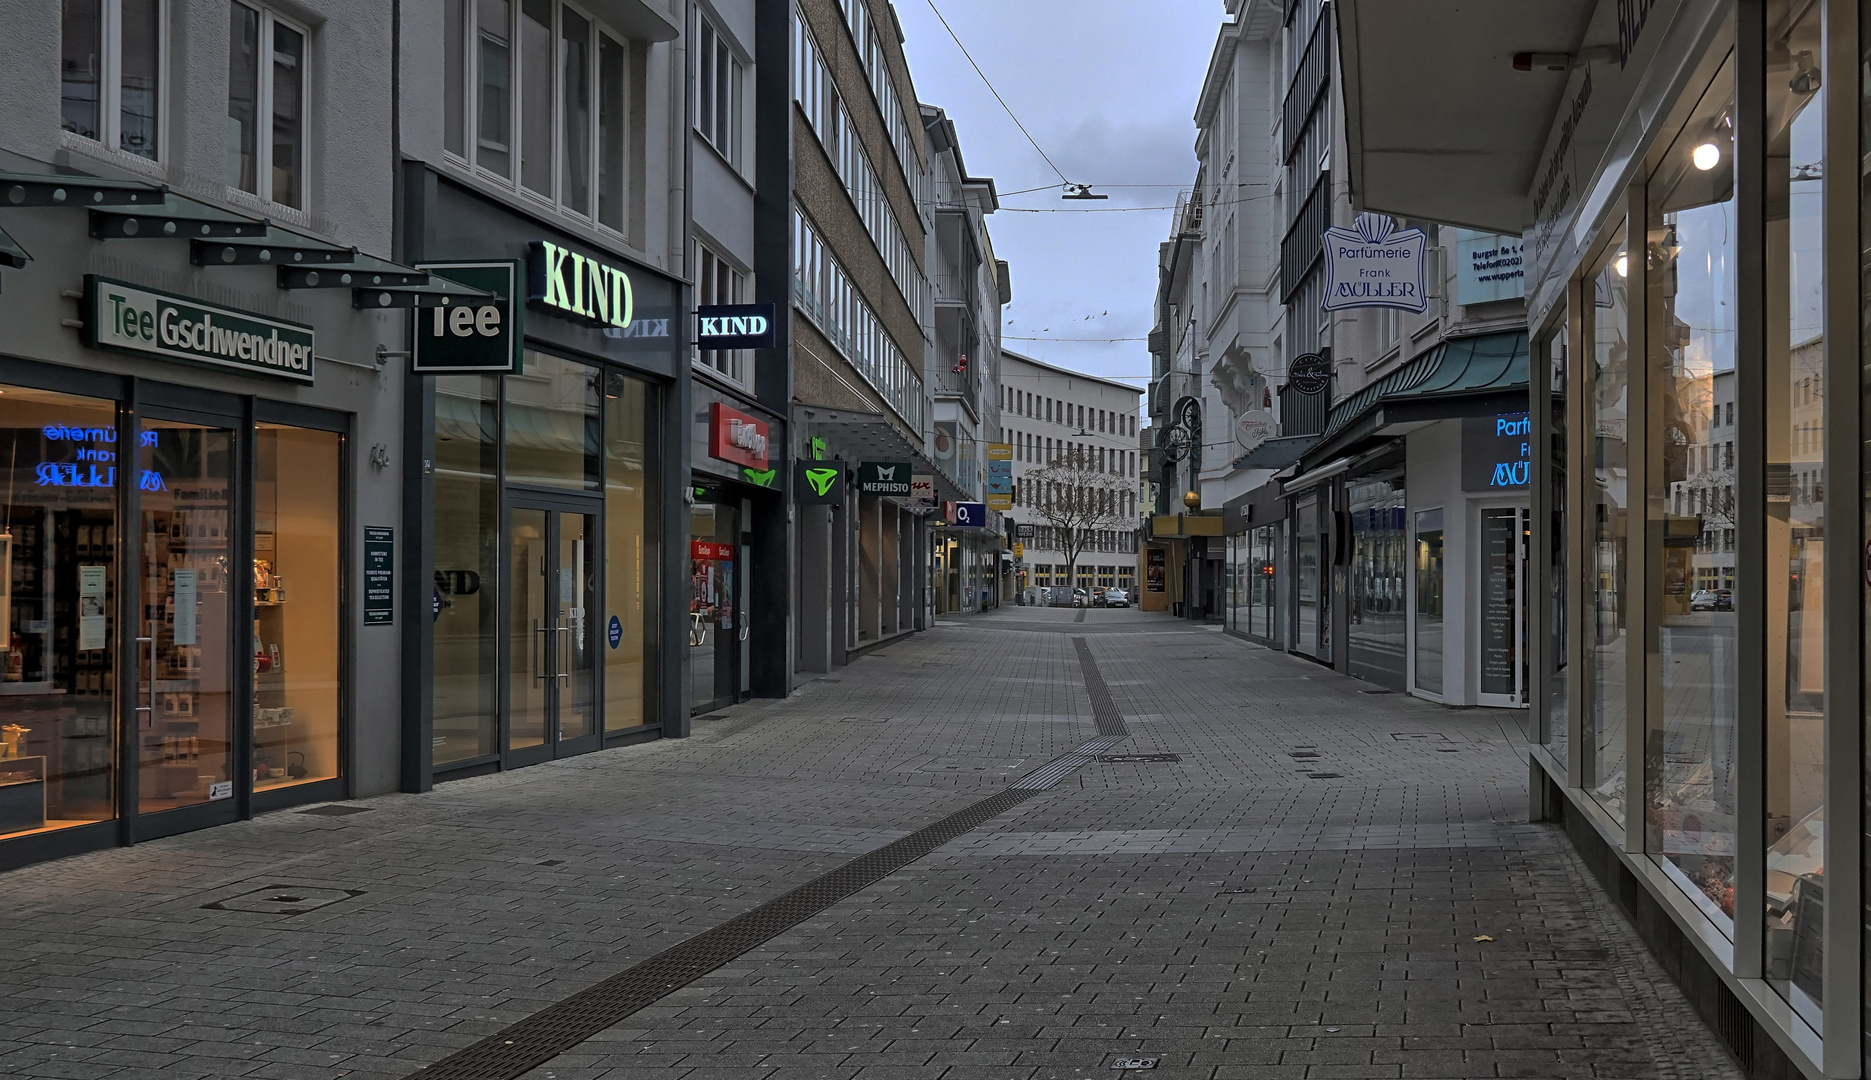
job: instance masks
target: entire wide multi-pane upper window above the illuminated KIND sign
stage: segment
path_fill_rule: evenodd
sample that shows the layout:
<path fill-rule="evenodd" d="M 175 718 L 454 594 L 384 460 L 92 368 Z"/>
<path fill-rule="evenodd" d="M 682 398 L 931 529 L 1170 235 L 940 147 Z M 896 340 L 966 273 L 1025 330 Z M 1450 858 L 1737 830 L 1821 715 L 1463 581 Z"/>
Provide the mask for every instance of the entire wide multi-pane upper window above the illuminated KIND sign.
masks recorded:
<path fill-rule="evenodd" d="M 449 0 L 443 45 L 449 153 L 468 165 L 471 133 L 483 178 L 642 234 L 642 43 L 556 0 Z"/>

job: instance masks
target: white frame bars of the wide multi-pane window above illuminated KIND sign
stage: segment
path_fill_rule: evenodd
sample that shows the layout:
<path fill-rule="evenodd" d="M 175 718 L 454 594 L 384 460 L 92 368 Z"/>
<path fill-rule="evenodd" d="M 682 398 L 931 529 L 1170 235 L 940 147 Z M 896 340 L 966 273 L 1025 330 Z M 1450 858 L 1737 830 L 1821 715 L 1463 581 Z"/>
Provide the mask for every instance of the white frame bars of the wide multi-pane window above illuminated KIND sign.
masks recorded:
<path fill-rule="evenodd" d="M 550 135 L 552 137 L 552 157 L 550 157 L 550 174 L 552 174 L 550 187 L 552 187 L 552 191 L 550 193 L 539 193 L 539 191 L 533 191 L 531 187 L 528 187 L 526 178 L 524 178 L 526 167 L 524 167 L 524 161 L 522 161 L 524 153 L 526 153 L 526 131 L 528 131 L 528 116 L 524 112 L 524 101 L 522 101 L 524 99 L 524 88 L 526 88 L 526 71 L 524 71 L 524 67 L 526 67 L 526 56 L 524 56 L 524 45 L 522 45 L 522 39 L 520 39 L 520 22 L 526 19 L 526 13 L 522 9 L 522 0 L 509 0 L 509 4 L 507 4 L 507 125 L 509 125 L 509 131 L 507 131 L 507 161 L 509 161 L 507 172 L 509 172 L 509 176 L 501 176 L 498 170 L 494 170 L 494 168 L 490 168 L 486 165 L 481 165 L 481 155 L 477 152 L 479 140 L 481 140 L 481 49 L 479 49 L 481 22 L 479 22 L 479 2 L 477 0 L 447 0 L 447 2 L 451 6 L 455 6 L 455 9 L 460 13 L 460 19 L 462 19 L 462 39 L 460 39 L 462 56 L 458 56 L 460 77 L 458 77 L 458 80 L 443 86 L 443 97 L 447 99 L 447 95 L 455 95 L 458 99 L 462 131 L 458 131 L 458 133 L 449 133 L 447 131 L 449 107 L 447 107 L 447 101 L 443 99 L 443 109 L 442 109 L 442 116 L 443 116 L 443 120 L 442 120 L 442 124 L 443 124 L 443 131 L 442 131 L 442 159 L 447 165 L 451 165 L 451 167 L 455 167 L 455 168 L 458 168 L 462 172 L 468 172 L 475 180 L 479 180 L 483 183 L 488 183 L 492 187 L 498 187 L 503 195 L 515 195 L 515 197 L 520 197 L 520 198 L 524 198 L 526 202 L 529 202 L 533 206 L 550 208 L 554 213 L 559 213 L 563 217 L 578 221 L 580 225 L 586 225 L 589 228 L 601 230 L 602 234 L 619 238 L 623 243 L 636 245 L 636 240 L 632 238 L 631 228 L 636 225 L 634 206 L 636 206 L 636 198 L 640 197 L 640 180 L 642 178 L 638 174 L 638 167 L 642 165 L 642 161 L 636 161 L 632 157 L 632 148 L 636 146 L 636 135 L 640 135 L 640 133 L 631 127 L 631 120 L 629 118 L 631 118 L 631 114 L 634 112 L 634 107 L 636 107 L 638 77 L 642 75 L 642 71 L 638 69 L 638 64 L 642 64 L 642 56 L 638 52 L 638 45 L 642 45 L 642 43 L 636 41 L 636 39 L 632 39 L 629 34 L 617 30 L 612 22 L 608 22 L 602 17 L 595 15 L 593 9 L 591 9 L 591 6 L 574 4 L 571 0 L 548 0 L 552 4 L 552 26 L 548 28 L 548 41 L 550 41 L 550 54 L 552 54 L 550 67 L 552 69 L 550 69 L 548 79 L 546 79 L 548 86 L 552 88 L 552 109 L 550 109 L 550 116 L 548 116 L 548 127 L 552 131 L 552 135 Z M 586 120 L 586 148 L 587 148 L 587 155 L 589 155 L 587 176 L 586 176 L 587 202 L 589 202 L 589 206 L 586 210 L 578 210 L 578 208 L 571 206 L 569 202 L 565 202 L 565 152 L 567 152 L 565 150 L 565 66 L 561 62 L 561 52 L 563 52 L 563 45 L 565 45 L 565 11 L 567 9 L 571 9 L 580 19 L 584 19 L 589 24 L 589 34 L 591 34 L 589 54 L 586 56 L 586 82 L 587 82 L 589 103 L 591 103 L 589 105 L 589 112 L 591 114 Z M 619 161 L 619 170 L 623 174 L 623 191 L 621 191 L 621 202 L 623 202 L 623 206 L 619 208 L 619 219 L 623 223 L 621 226 L 606 225 L 601 219 L 601 212 L 599 212 L 599 208 L 602 204 L 602 176 L 604 176 L 604 167 L 602 167 L 602 159 L 604 159 L 604 107 L 602 107 L 604 66 L 602 66 L 602 54 L 604 54 L 604 41 L 606 39 L 619 49 L 619 52 L 623 56 L 623 64 L 625 64 L 625 71 L 623 71 L 623 80 L 625 80 L 625 88 L 623 88 L 623 92 L 625 92 L 623 114 L 625 114 L 625 120 L 623 120 L 623 129 L 621 129 L 621 139 L 623 139 L 621 152 L 623 152 L 623 157 Z M 449 49 L 447 34 L 445 32 L 442 34 L 442 49 L 443 51 Z M 449 148 L 451 135 L 458 135 L 460 137 L 460 144 L 462 144 L 462 152 L 460 153 L 457 153 L 455 150 Z"/>

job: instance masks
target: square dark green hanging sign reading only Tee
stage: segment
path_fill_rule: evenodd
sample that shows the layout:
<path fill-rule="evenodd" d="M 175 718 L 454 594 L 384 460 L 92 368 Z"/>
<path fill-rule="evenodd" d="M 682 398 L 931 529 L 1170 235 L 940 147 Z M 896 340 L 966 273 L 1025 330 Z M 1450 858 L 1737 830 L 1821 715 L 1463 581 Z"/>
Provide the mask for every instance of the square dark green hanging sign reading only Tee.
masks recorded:
<path fill-rule="evenodd" d="M 410 371 L 415 374 L 498 374 L 520 371 L 518 262 L 423 262 L 436 277 L 492 292 L 466 303 L 417 311 L 412 322 Z"/>

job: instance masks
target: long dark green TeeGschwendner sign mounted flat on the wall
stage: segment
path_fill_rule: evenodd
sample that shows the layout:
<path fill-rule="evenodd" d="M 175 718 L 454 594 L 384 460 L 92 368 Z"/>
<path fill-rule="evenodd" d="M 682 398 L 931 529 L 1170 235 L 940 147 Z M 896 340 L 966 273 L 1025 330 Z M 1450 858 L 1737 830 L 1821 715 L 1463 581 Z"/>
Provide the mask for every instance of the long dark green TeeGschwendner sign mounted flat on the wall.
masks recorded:
<path fill-rule="evenodd" d="M 312 382 L 312 328 L 84 275 L 84 344 Z"/>

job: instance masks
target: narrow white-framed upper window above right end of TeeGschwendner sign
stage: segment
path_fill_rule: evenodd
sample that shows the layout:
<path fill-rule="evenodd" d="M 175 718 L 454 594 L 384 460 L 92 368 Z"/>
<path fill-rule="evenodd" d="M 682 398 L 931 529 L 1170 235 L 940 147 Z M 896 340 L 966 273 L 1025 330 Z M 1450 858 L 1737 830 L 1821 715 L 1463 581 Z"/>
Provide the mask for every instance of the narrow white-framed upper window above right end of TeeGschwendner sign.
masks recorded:
<path fill-rule="evenodd" d="M 305 30 L 228 4 L 226 183 L 305 210 Z"/>

